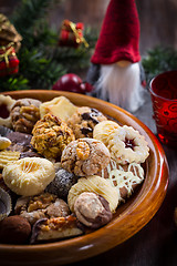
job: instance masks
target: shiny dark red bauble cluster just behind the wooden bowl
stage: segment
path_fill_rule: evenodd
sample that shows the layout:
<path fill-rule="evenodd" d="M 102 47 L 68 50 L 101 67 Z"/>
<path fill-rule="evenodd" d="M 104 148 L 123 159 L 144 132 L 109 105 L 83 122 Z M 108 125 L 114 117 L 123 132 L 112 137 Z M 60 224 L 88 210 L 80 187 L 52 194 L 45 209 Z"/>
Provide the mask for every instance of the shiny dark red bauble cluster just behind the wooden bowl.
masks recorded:
<path fill-rule="evenodd" d="M 70 91 L 84 94 L 86 92 L 91 92 L 93 90 L 93 86 L 87 82 L 83 82 L 79 75 L 69 73 L 62 75 L 52 86 L 52 90 Z"/>

